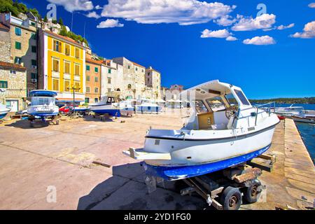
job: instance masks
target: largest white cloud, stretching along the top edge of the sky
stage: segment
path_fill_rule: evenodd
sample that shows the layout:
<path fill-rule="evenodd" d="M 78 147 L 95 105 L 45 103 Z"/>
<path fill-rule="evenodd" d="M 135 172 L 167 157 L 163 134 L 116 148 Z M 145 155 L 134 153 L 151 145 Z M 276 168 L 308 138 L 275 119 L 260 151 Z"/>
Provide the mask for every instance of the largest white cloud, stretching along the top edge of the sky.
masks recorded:
<path fill-rule="evenodd" d="M 235 7 L 197 0 L 109 0 L 103 7 L 102 16 L 144 24 L 177 22 L 193 25 L 221 18 Z"/>

